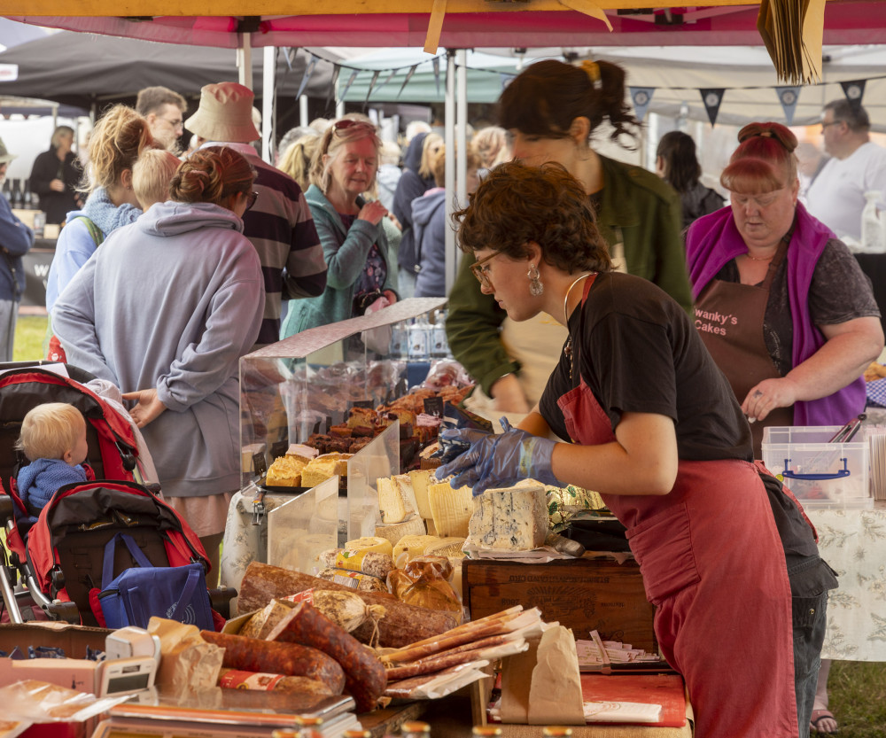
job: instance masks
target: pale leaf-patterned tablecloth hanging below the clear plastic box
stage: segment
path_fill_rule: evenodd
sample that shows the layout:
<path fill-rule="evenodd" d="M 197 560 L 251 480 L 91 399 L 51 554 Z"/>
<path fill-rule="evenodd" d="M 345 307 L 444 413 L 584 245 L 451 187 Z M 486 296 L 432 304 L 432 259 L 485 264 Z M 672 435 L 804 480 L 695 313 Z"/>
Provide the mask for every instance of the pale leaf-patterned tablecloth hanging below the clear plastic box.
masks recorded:
<path fill-rule="evenodd" d="M 828 598 L 822 658 L 886 662 L 886 501 L 874 509 L 806 509 L 840 588 Z"/>

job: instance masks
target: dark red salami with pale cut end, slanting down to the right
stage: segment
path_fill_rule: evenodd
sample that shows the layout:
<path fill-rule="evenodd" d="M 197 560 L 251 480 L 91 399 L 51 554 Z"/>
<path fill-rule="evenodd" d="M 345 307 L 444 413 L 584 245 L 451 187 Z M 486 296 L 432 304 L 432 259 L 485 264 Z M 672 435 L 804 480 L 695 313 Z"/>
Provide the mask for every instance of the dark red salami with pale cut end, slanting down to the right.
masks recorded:
<path fill-rule="evenodd" d="M 385 692 L 387 675 L 378 657 L 307 602 L 292 608 L 268 633 L 268 640 L 299 643 L 332 656 L 345 670 L 345 688 L 354 697 L 357 712 L 375 709 Z"/>

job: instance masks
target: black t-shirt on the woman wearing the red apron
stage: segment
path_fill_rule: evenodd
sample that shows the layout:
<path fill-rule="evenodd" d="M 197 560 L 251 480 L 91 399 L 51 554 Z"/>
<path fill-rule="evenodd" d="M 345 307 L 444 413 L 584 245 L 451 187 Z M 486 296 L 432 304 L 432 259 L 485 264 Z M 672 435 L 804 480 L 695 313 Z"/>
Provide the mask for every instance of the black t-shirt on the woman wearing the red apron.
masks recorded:
<path fill-rule="evenodd" d="M 556 401 L 580 376 L 610 418 L 657 413 L 676 424 L 680 459 L 751 461 L 750 426 L 727 378 L 711 359 L 686 312 L 640 277 L 597 275 L 569 331 L 575 361 L 561 355 L 540 400 L 540 413 L 562 439 L 569 434 Z"/>

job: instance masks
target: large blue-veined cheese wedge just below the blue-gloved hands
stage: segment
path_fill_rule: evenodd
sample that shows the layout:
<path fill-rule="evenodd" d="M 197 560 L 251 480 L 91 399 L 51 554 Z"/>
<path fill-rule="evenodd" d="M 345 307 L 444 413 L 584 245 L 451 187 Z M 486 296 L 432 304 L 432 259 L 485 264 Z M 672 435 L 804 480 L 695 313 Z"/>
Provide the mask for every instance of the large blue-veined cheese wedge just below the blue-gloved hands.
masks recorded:
<path fill-rule="evenodd" d="M 548 535 L 545 488 L 525 485 L 488 489 L 474 498 L 466 545 L 530 551 Z"/>

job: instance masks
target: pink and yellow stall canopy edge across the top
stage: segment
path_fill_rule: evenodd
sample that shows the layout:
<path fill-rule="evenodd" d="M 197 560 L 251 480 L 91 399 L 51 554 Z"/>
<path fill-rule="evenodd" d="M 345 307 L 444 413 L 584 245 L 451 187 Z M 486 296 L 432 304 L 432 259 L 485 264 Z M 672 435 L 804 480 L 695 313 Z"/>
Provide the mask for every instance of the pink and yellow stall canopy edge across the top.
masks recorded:
<path fill-rule="evenodd" d="M 808 5 L 823 6 L 824 43 L 882 42 L 886 3 Z M 759 45 L 759 8 L 742 0 L 680 9 L 651 8 L 649 0 L 253 0 L 253 15 L 243 16 L 242 0 L 216 0 L 215 15 L 188 16 L 190 5 L 177 0 L 121 0 L 112 18 L 105 0 L 78 0 L 75 7 L 62 0 L 4 0 L 3 12 L 41 26 L 227 48 L 241 47 L 245 39 L 252 47 L 424 47 L 439 22 L 439 46 L 469 49 Z M 63 15 L 70 12 L 76 17 Z"/>

